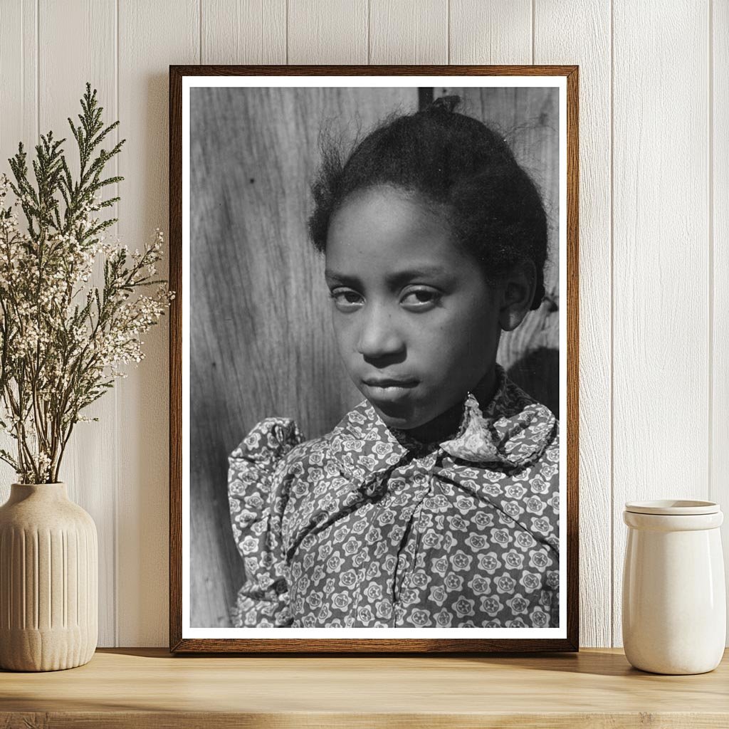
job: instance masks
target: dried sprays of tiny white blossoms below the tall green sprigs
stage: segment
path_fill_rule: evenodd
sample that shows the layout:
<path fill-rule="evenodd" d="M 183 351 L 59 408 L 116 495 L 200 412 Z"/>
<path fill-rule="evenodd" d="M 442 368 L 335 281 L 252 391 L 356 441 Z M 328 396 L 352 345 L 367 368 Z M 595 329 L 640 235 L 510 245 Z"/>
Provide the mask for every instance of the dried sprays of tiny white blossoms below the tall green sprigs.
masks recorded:
<path fill-rule="evenodd" d="M 0 176 L 0 297 L 5 305 L 5 313 L 0 310 L 0 331 L 6 333 L 9 352 L 2 363 L 2 377 L 15 404 L 11 407 L 1 393 L 4 426 L 0 430 L 12 437 L 24 433 L 32 464 L 24 459 L 27 468 L 19 471 L 23 480 L 47 479 L 57 465 L 58 451 L 49 453 L 39 447 L 50 435 L 45 430 L 42 441 L 36 422 L 57 418 L 68 432 L 75 423 L 96 419 L 80 414 L 79 408 L 106 391 L 101 383 L 128 377 L 121 364 L 139 364 L 144 359 L 140 335 L 159 321 L 174 292 L 165 284 L 159 284 L 154 295 L 136 289 L 157 273 L 154 264 L 161 258 L 161 230 L 155 231 L 150 245 L 131 255 L 128 246 L 103 235 L 86 240 L 81 234 L 58 231 L 47 234 L 41 249 L 39 240 L 20 230 L 15 211 L 7 214 L 9 190 L 7 176 Z M 98 225 L 98 218 L 91 217 L 95 209 L 98 205 L 87 204 L 79 211 L 77 231 Z M 111 276 L 109 271 L 108 286 L 98 290 L 97 303 L 87 283 L 99 254 L 107 264 L 114 262 L 115 273 Z M 122 256 L 126 256 L 123 263 Z M 123 281 L 133 286 L 131 295 L 120 291 Z M 86 316 L 77 316 L 85 307 Z M 28 373 L 33 377 L 28 378 Z"/>

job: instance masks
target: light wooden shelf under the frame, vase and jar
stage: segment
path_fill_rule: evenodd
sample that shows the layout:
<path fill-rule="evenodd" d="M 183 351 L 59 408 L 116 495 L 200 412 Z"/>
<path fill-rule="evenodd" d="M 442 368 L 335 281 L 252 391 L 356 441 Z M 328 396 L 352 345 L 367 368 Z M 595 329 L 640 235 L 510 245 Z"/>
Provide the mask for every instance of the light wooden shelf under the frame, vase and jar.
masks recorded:
<path fill-rule="evenodd" d="M 117 648 L 70 671 L 0 671 L 2 729 L 71 726 L 719 728 L 729 726 L 729 653 L 698 676 L 645 674 L 610 649 L 353 658 Z"/>

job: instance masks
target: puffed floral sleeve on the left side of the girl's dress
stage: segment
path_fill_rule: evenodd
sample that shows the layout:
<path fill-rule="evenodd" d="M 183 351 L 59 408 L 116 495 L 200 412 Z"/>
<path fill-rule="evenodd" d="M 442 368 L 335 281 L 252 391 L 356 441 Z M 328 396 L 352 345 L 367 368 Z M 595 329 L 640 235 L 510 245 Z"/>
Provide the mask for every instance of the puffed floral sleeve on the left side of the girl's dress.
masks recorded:
<path fill-rule="evenodd" d="M 303 442 L 289 418 L 266 418 L 228 456 L 233 537 L 246 581 L 231 609 L 235 628 L 285 628 L 292 623 L 281 546 L 284 456 Z"/>

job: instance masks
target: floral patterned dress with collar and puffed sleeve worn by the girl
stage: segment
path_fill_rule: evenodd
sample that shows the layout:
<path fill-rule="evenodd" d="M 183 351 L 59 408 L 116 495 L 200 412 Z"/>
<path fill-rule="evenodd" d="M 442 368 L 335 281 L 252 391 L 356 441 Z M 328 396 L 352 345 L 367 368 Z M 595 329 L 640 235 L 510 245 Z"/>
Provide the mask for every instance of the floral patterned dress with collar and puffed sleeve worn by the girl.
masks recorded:
<path fill-rule="evenodd" d="M 443 443 L 367 401 L 315 440 L 286 418 L 255 426 L 228 459 L 233 625 L 558 627 L 558 421 L 497 373 Z"/>

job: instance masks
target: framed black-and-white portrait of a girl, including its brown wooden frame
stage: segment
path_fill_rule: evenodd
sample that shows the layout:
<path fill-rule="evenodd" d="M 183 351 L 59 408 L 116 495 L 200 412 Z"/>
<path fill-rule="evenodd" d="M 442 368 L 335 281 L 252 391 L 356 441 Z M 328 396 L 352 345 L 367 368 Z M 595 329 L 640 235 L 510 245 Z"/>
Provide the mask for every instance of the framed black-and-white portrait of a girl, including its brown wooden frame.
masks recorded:
<path fill-rule="evenodd" d="M 577 74 L 170 67 L 172 651 L 578 650 Z"/>

